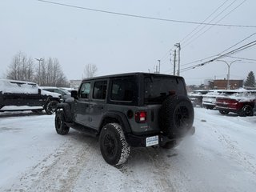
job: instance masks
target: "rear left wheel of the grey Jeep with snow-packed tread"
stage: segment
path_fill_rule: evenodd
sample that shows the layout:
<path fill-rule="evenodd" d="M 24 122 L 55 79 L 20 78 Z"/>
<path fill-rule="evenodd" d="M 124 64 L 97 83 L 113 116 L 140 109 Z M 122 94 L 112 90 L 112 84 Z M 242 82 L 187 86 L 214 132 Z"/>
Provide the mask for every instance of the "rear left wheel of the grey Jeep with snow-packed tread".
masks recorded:
<path fill-rule="evenodd" d="M 118 123 L 109 123 L 103 126 L 99 142 L 102 157 L 112 166 L 126 162 L 130 155 L 130 146 Z"/>

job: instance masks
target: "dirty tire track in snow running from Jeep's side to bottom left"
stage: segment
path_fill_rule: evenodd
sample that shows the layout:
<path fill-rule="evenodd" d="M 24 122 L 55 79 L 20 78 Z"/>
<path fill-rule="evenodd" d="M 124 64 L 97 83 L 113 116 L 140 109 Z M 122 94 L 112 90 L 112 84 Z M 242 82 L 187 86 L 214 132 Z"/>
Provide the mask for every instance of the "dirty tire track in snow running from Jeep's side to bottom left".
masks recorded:
<path fill-rule="evenodd" d="M 78 140 L 82 138 L 84 135 L 78 136 Z M 54 153 L 23 174 L 18 184 L 6 191 L 71 191 L 92 153 L 93 148 L 88 143 L 96 142 L 94 138 L 84 139 L 89 141 L 81 143 L 70 138 Z"/>

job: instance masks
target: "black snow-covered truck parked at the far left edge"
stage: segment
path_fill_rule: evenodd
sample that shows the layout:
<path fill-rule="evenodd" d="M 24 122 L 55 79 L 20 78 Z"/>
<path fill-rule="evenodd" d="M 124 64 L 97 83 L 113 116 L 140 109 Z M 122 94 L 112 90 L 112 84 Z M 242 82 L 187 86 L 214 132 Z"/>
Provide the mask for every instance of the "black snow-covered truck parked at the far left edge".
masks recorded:
<path fill-rule="evenodd" d="M 46 110 L 53 114 L 62 95 L 41 90 L 34 82 L 0 79 L 0 111 Z"/>

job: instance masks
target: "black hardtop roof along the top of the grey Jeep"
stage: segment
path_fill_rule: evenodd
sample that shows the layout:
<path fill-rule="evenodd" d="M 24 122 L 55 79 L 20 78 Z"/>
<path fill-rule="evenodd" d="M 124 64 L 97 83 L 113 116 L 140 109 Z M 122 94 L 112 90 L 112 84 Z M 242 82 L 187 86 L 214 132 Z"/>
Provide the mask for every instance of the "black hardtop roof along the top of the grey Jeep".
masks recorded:
<path fill-rule="evenodd" d="M 84 79 L 82 79 L 82 82 L 85 82 L 88 80 L 94 80 L 94 79 L 101 79 L 101 78 L 120 78 L 120 77 L 144 75 L 144 74 L 154 75 L 154 76 L 163 76 L 163 77 L 182 78 L 181 76 L 175 76 L 175 75 L 170 75 L 170 74 L 150 74 L 150 73 L 134 72 L 134 73 L 126 73 L 126 74 L 110 74 L 110 75 L 98 76 L 98 77 L 94 77 L 94 78 L 84 78 Z"/>

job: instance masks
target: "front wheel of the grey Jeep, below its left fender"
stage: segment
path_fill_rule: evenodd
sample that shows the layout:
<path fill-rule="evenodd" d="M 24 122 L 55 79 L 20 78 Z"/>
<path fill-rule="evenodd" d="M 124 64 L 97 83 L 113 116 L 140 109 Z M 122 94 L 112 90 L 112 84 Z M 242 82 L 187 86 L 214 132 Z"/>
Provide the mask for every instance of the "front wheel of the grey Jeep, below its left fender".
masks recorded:
<path fill-rule="evenodd" d="M 65 115 L 62 110 L 56 111 L 55 130 L 58 134 L 68 134 L 70 131 L 70 127 L 66 126 Z"/>

